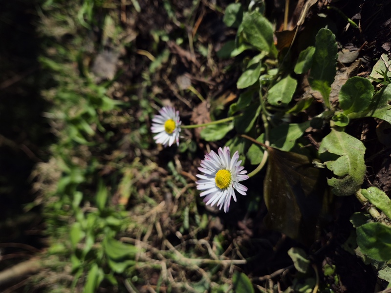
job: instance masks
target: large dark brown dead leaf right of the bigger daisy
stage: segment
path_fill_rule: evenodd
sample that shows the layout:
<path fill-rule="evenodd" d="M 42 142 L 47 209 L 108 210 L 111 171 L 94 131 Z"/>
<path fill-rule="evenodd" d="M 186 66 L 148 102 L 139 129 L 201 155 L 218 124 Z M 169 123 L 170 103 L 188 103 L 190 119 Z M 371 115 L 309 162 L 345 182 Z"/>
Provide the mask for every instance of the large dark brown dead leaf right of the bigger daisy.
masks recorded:
<path fill-rule="evenodd" d="M 304 244 L 313 243 L 328 210 L 325 169 L 304 155 L 268 147 L 263 181 L 265 224 Z"/>

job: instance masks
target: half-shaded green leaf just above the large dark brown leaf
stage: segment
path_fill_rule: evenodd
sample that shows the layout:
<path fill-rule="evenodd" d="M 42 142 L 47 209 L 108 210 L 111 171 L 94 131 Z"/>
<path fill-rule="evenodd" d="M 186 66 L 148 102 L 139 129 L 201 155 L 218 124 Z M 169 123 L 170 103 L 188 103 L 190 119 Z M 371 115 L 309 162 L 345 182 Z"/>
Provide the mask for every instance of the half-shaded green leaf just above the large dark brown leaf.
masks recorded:
<path fill-rule="evenodd" d="M 295 145 L 296 140 L 302 137 L 305 129 L 310 126 L 310 121 L 304 123 L 291 123 L 277 126 L 270 130 L 270 146 L 280 150 L 289 151 Z"/>

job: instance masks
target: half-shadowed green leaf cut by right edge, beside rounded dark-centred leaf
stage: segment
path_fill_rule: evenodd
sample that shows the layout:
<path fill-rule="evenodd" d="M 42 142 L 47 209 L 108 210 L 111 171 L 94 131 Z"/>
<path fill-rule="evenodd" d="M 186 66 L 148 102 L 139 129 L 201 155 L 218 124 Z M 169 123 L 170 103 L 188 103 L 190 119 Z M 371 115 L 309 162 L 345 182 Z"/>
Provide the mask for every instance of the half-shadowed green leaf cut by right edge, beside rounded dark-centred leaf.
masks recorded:
<path fill-rule="evenodd" d="M 391 84 L 383 87 L 373 96 L 372 102 L 368 107 L 369 113 L 366 116 L 379 118 L 391 123 L 391 105 L 389 105 L 389 101 L 391 101 Z"/>

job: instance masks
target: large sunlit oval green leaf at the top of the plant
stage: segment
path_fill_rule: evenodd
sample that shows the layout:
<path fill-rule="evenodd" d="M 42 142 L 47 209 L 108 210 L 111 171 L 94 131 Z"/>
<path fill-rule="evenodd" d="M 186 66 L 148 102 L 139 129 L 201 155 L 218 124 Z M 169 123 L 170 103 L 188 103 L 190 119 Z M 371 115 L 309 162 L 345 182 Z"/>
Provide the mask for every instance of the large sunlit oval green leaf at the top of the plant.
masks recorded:
<path fill-rule="evenodd" d="M 270 52 L 273 44 L 272 24 L 261 13 L 244 13 L 241 23 L 247 42 L 260 51 Z"/>

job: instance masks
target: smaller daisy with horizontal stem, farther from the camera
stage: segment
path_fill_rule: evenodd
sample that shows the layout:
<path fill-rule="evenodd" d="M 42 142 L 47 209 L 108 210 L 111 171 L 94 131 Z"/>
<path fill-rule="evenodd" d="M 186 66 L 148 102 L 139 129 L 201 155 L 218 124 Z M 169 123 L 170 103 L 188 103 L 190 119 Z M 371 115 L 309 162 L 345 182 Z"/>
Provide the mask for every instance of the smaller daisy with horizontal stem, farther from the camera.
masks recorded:
<path fill-rule="evenodd" d="M 159 114 L 153 117 L 151 127 L 152 132 L 157 133 L 153 137 L 156 144 L 172 146 L 176 142 L 176 145 L 179 146 L 179 132 L 182 123 L 179 119 L 179 111 L 168 106 L 163 107 Z"/>

